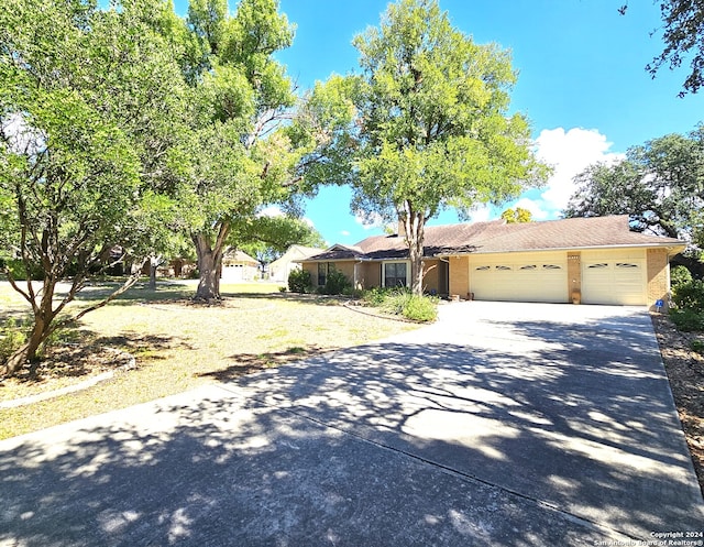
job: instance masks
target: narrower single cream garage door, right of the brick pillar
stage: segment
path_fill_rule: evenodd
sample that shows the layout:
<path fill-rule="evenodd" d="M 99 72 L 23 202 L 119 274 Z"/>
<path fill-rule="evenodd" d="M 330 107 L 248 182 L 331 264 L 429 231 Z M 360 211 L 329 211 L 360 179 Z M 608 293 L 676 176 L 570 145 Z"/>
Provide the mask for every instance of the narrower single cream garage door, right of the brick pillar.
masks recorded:
<path fill-rule="evenodd" d="M 582 302 L 641 306 L 646 304 L 645 251 L 582 253 Z"/>

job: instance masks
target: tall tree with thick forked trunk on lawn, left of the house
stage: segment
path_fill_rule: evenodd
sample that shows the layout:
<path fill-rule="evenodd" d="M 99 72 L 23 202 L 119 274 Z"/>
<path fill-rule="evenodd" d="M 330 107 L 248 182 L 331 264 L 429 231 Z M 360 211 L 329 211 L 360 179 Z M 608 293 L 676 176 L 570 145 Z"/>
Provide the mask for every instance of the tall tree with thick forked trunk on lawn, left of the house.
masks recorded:
<path fill-rule="evenodd" d="M 294 37 L 277 10 L 277 0 L 242 0 L 230 14 L 227 0 L 194 0 L 168 29 L 193 103 L 174 204 L 196 245 L 199 299 L 220 296 L 222 252 L 242 243 L 233 228 L 268 204 L 295 201 L 301 157 L 316 146 L 309 125 L 294 120 L 294 86 L 273 56 Z"/>

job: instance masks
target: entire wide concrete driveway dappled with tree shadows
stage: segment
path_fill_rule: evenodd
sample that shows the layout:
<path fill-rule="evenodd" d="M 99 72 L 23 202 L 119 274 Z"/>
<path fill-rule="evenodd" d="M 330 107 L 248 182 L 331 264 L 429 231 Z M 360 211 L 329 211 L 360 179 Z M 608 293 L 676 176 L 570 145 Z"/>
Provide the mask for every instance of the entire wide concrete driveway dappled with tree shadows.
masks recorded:
<path fill-rule="evenodd" d="M 653 545 L 704 522 L 639 308 L 447 305 L 2 441 L 0 477 L 3 546 Z"/>

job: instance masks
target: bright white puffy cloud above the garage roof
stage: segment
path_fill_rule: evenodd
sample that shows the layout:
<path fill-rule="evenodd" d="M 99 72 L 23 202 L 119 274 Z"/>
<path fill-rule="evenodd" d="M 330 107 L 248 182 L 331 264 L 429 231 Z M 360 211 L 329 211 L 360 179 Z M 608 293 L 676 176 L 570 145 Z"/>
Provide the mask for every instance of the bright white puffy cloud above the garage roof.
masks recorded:
<path fill-rule="evenodd" d="M 556 216 L 564 209 L 574 193 L 572 179 L 575 175 L 594 163 L 614 163 L 625 157 L 624 154 L 609 152 L 612 144 L 606 135 L 595 129 L 572 128 L 566 132 L 563 128 L 542 130 L 536 140 L 537 156 L 554 171 L 540 199 L 527 200 L 537 207 L 536 211 L 530 207 L 519 207 L 529 209 L 536 219 Z"/>

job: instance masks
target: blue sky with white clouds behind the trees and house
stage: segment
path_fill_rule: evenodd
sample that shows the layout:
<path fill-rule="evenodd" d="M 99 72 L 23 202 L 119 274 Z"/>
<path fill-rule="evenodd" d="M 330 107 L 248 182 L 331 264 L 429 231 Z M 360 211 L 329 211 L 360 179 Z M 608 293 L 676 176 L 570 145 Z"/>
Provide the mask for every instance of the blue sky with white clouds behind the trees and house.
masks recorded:
<path fill-rule="evenodd" d="M 440 0 L 453 25 L 477 43 L 496 42 L 513 54 L 518 83 L 512 110 L 531 120 L 540 157 L 554 175 L 540 190 L 516 204 L 479 209 L 473 218 L 496 218 L 521 206 L 534 218 L 557 218 L 572 194 L 572 177 L 587 165 L 618 158 L 626 149 L 667 133 L 686 133 L 704 120 L 704 94 L 678 97 L 686 68 L 662 70 L 656 79 L 645 66 L 662 50 L 654 0 Z M 375 26 L 387 0 L 280 0 L 297 26 L 290 48 L 277 54 L 299 89 L 331 74 L 359 70 L 352 37 Z M 185 0 L 177 0 L 185 14 Z M 235 1 L 230 0 L 230 8 Z M 654 34 L 651 36 L 651 33 Z M 322 188 L 306 217 L 328 243 L 354 243 L 382 233 L 350 212 L 346 188 Z M 431 223 L 455 222 L 446 212 Z"/>

